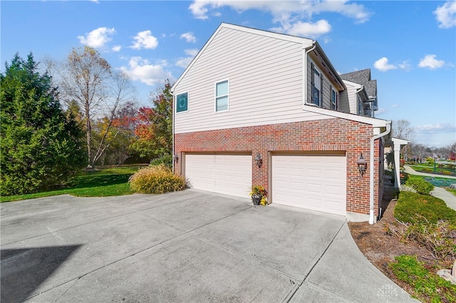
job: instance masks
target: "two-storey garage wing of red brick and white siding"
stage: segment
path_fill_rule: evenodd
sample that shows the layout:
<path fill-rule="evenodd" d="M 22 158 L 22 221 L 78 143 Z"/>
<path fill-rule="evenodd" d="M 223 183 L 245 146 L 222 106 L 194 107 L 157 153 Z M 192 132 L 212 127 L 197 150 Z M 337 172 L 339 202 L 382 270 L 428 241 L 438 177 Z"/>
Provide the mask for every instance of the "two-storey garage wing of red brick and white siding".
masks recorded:
<path fill-rule="evenodd" d="M 199 190 L 249 197 L 264 185 L 272 205 L 373 222 L 391 122 L 341 111 L 347 89 L 316 41 L 221 24 L 171 90 L 175 173 Z"/>

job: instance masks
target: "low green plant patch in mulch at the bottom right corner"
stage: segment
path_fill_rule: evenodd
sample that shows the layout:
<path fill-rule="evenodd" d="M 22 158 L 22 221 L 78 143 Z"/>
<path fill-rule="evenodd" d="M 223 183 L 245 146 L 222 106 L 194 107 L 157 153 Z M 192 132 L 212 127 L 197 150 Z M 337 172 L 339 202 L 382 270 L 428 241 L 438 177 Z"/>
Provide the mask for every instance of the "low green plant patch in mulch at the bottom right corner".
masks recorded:
<path fill-rule="evenodd" d="M 416 256 L 401 255 L 395 260 L 389 267 L 398 279 L 413 287 L 421 302 L 456 302 L 456 285 L 430 272 Z"/>

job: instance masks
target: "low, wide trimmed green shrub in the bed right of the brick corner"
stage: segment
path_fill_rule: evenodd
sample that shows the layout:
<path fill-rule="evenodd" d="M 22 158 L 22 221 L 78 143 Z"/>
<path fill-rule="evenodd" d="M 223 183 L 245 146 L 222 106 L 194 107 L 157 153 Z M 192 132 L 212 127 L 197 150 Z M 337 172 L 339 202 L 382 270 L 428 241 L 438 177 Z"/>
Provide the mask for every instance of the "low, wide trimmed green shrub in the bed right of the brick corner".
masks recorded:
<path fill-rule="evenodd" d="M 456 225 L 456 210 L 447 207 L 438 197 L 415 192 L 400 192 L 394 208 L 394 217 L 405 223 L 437 223 L 438 220 L 447 220 L 450 224 Z"/>

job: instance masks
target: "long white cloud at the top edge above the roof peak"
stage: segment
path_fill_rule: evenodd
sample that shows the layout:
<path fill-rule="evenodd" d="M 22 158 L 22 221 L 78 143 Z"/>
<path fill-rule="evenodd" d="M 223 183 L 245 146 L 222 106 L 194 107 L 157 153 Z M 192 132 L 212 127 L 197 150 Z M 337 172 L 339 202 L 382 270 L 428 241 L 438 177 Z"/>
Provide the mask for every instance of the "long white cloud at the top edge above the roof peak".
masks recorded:
<path fill-rule="evenodd" d="M 209 11 L 220 16 L 217 9 L 227 6 L 242 13 L 249 9 L 265 11 L 272 16 L 274 23 L 279 26 L 272 30 L 292 35 L 320 36 L 331 30 L 326 20 L 312 22 L 314 14 L 333 12 L 355 19 L 357 23 L 368 21 L 369 13 L 362 4 L 348 3 L 348 0 L 333 1 L 231 1 L 231 0 L 195 0 L 189 9 L 197 19 L 208 19 Z M 314 31 L 313 31 L 314 30 Z"/>

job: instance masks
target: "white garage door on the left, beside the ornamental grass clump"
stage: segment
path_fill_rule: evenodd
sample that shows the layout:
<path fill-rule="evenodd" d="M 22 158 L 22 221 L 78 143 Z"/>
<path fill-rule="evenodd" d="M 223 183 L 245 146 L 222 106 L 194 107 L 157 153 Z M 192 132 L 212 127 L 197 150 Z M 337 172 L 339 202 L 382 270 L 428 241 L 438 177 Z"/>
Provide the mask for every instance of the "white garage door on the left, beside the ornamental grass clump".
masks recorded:
<path fill-rule="evenodd" d="M 197 190 L 249 197 L 252 155 L 185 155 L 185 178 Z"/>

